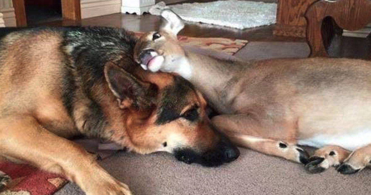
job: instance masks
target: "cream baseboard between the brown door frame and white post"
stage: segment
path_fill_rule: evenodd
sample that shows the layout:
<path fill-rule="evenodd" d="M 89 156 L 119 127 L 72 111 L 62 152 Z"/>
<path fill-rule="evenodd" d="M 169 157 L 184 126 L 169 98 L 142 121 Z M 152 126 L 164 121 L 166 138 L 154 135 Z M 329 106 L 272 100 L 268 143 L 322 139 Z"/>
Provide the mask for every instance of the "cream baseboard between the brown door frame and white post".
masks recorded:
<path fill-rule="evenodd" d="M 121 0 L 81 0 L 81 18 L 121 12 Z"/>

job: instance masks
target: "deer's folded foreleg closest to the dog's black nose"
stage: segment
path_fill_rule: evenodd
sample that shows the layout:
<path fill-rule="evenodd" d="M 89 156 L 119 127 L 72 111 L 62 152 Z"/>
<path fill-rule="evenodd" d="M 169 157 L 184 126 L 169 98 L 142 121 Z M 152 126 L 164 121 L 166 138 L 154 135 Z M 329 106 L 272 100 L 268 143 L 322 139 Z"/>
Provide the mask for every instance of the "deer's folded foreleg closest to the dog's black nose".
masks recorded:
<path fill-rule="evenodd" d="M 292 136 L 282 133 L 279 140 L 266 138 L 266 135 L 260 132 L 273 131 L 273 129 L 264 129 L 267 127 L 248 114 L 219 115 L 211 120 L 239 146 L 294 162 L 307 163 L 308 153 L 296 146 L 296 140 L 291 139 Z"/>

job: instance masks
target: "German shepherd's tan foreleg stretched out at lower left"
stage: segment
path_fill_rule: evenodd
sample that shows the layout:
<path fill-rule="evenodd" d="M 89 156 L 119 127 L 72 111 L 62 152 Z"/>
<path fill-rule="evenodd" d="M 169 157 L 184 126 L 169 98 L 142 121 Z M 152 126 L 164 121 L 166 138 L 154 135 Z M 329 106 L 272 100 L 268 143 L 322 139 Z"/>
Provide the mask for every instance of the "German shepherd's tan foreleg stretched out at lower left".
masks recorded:
<path fill-rule="evenodd" d="M 43 128 L 33 117 L 0 119 L 0 155 L 65 175 L 87 195 L 131 195 L 92 155 Z"/>

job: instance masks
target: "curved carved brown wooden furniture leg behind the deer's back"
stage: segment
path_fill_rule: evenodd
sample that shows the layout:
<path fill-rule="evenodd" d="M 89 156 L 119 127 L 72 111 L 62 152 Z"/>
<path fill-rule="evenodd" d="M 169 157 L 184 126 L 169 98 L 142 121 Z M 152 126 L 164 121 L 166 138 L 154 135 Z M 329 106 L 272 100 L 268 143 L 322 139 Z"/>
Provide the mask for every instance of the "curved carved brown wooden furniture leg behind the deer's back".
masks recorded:
<path fill-rule="evenodd" d="M 325 46 L 334 33 L 341 33 L 338 27 L 345 30 L 361 29 L 371 23 L 370 10 L 371 0 L 319 0 L 309 6 L 305 13 L 306 38 L 311 48 L 309 56 L 328 56 Z"/>

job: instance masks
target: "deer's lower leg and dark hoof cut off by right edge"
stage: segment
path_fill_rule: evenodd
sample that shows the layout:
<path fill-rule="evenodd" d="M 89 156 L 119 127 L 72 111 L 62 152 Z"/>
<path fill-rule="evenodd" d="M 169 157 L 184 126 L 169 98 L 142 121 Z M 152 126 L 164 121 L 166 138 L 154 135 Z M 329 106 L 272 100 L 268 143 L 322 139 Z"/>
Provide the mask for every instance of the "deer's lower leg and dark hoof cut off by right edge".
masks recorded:
<path fill-rule="evenodd" d="M 343 174 L 357 173 L 371 165 L 371 144 L 354 150 L 337 168 Z"/>

